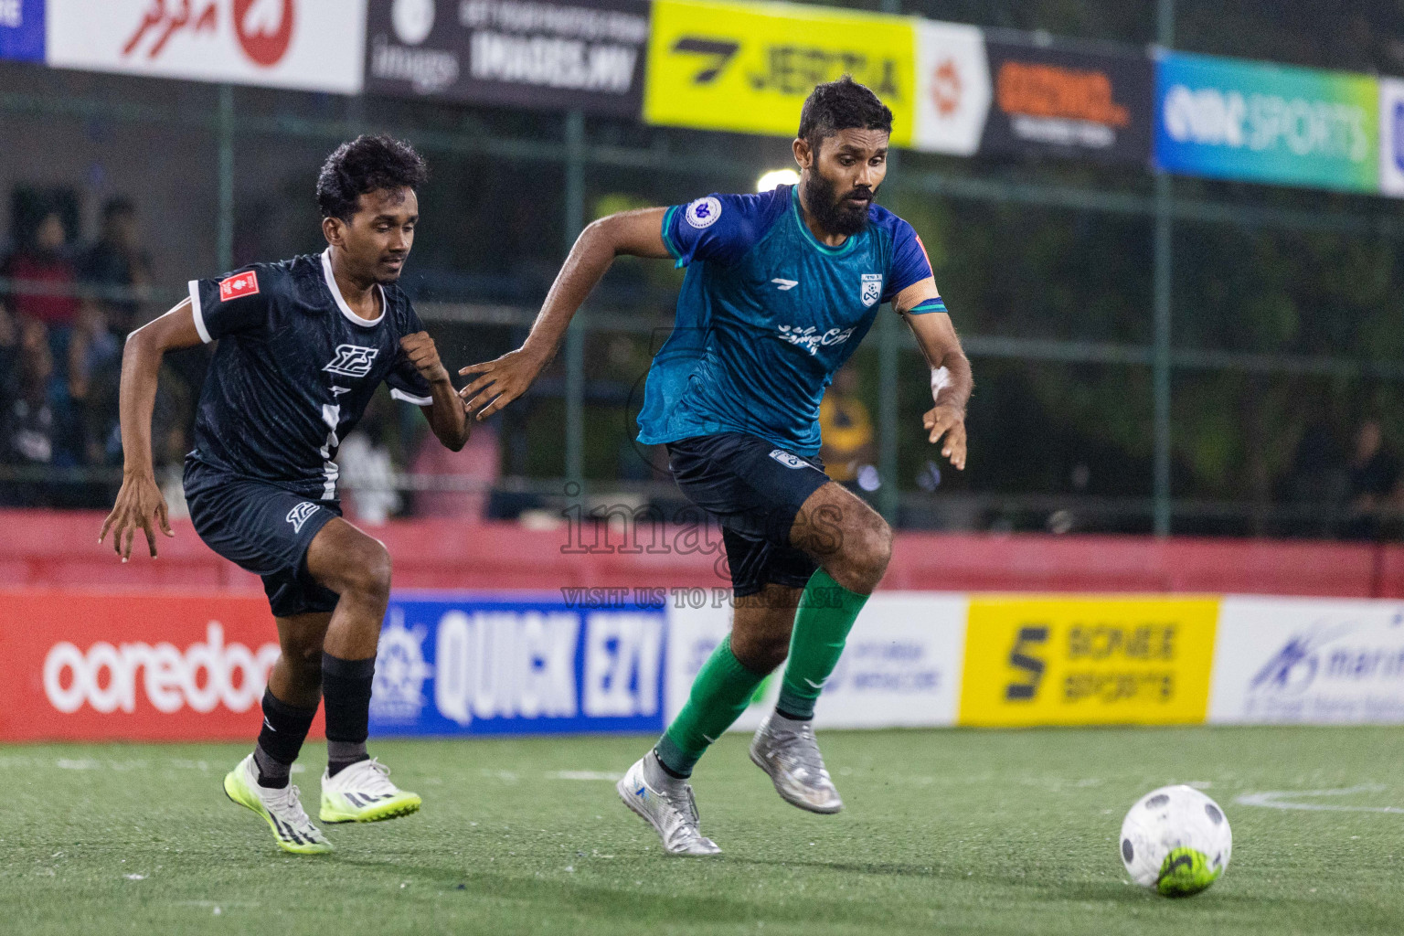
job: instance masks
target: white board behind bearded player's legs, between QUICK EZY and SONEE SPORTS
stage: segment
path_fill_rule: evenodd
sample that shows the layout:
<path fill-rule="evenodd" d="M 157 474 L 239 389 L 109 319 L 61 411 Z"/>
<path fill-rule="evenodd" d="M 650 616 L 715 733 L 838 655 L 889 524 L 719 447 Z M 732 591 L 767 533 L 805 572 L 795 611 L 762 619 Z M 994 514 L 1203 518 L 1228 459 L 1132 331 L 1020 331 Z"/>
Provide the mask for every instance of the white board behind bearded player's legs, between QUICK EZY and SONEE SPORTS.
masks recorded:
<path fill-rule="evenodd" d="M 848 637 L 814 711 L 819 728 L 955 724 L 966 598 L 939 592 L 873 595 Z M 731 629 L 726 606 L 670 608 L 667 718 L 688 700 L 692 681 Z M 734 726 L 754 731 L 775 707 L 782 672 L 771 675 Z"/>

